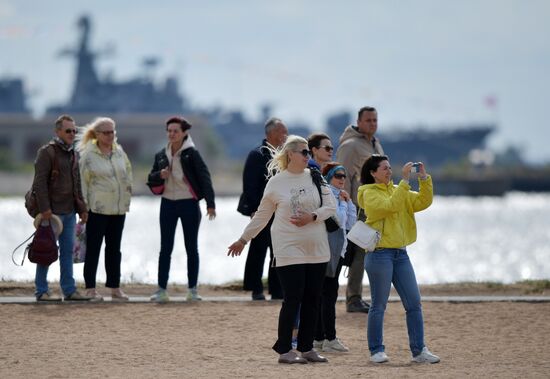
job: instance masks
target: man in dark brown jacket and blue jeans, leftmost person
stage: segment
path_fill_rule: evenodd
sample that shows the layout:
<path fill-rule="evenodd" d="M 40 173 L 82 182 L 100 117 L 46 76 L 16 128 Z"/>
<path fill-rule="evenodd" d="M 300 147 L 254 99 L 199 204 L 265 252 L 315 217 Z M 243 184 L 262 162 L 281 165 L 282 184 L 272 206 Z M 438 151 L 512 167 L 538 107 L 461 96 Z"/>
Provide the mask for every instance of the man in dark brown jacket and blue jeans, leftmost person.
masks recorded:
<path fill-rule="evenodd" d="M 59 242 L 59 284 L 65 300 L 90 300 L 76 290 L 73 277 L 73 245 L 76 217 L 86 222 L 88 212 L 82 197 L 78 160 L 73 149 L 76 135 L 74 120 L 67 115 L 55 122 L 55 137 L 37 153 L 34 163 L 33 188 L 42 220 L 58 216 L 63 223 Z M 48 289 L 49 266 L 36 265 L 35 285 L 37 301 L 60 301 Z"/>

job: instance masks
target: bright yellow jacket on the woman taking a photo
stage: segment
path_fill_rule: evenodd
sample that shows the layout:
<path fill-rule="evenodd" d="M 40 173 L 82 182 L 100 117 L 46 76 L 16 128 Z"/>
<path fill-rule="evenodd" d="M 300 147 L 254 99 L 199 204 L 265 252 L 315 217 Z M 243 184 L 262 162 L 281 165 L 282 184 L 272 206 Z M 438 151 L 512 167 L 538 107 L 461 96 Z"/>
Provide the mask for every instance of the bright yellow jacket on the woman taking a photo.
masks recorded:
<path fill-rule="evenodd" d="M 382 234 L 379 247 L 399 248 L 416 241 L 415 212 L 428 208 L 433 200 L 431 176 L 419 180 L 419 192 L 411 191 L 401 180 L 389 184 L 364 184 L 357 191 L 357 200 L 367 215 L 366 223 Z"/>

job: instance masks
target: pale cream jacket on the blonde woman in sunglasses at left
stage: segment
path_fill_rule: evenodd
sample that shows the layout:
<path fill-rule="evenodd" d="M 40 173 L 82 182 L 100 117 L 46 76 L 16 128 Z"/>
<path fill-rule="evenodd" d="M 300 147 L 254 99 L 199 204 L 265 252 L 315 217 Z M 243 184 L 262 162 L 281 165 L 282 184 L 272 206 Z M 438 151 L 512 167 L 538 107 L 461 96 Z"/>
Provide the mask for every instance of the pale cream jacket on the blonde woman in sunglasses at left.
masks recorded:
<path fill-rule="evenodd" d="M 93 140 L 80 154 L 82 194 L 88 210 L 103 215 L 128 212 L 132 197 L 132 166 L 122 147 L 113 143 L 112 154 L 107 156 Z"/>

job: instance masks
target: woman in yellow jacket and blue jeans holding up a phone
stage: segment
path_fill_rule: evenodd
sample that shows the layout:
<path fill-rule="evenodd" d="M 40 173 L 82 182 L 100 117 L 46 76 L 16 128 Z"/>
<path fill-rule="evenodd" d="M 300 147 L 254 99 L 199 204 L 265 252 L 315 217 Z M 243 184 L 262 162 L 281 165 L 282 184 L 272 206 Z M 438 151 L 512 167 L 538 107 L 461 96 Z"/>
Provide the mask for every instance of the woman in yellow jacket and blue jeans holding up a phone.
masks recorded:
<path fill-rule="evenodd" d="M 374 363 L 388 361 L 384 352 L 383 326 L 392 283 L 405 307 L 412 361 L 439 362 L 439 357 L 424 344 L 420 291 L 406 249 L 416 241 L 414 214 L 428 208 L 433 199 L 431 177 L 422 163 L 414 166 L 418 169 L 419 192 L 411 191 L 409 186 L 412 162 L 403 166 L 403 179 L 397 186 L 391 181 L 392 169 L 385 155 L 372 155 L 361 169 L 363 185 L 357 192 L 358 204 L 365 210 L 366 223 L 382 235 L 376 250 L 365 256 L 372 299 L 367 339 L 370 360 Z"/>

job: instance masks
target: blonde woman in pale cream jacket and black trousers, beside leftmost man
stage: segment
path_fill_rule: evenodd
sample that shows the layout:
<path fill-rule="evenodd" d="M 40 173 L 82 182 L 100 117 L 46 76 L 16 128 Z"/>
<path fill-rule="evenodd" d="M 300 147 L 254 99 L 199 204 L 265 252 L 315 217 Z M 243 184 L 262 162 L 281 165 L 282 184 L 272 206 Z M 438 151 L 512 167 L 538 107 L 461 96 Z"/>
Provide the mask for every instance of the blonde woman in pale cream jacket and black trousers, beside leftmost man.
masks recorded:
<path fill-rule="evenodd" d="M 128 296 L 120 289 L 120 244 L 130 209 L 132 166 L 116 142 L 115 122 L 110 118 L 97 118 L 81 128 L 77 149 L 82 194 L 89 212 L 84 262 L 86 294 L 95 301 L 103 300 L 96 290 L 96 273 L 105 239 L 105 286 L 111 289 L 113 301 L 127 301 Z"/>

